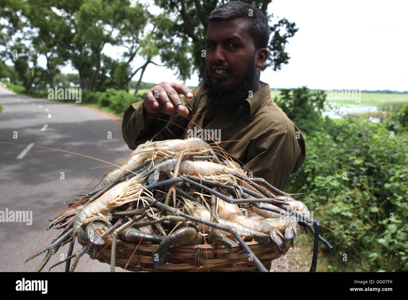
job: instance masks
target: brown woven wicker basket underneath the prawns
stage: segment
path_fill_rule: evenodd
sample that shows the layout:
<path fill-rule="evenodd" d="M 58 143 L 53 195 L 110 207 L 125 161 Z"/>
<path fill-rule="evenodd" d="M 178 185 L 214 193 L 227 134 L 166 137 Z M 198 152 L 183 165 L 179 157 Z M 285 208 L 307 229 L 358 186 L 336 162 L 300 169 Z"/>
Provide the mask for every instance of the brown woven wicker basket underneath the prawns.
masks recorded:
<path fill-rule="evenodd" d="M 105 238 L 105 244 L 98 246 L 96 253 L 99 253 L 97 256 L 99 261 L 111 263 L 111 242 L 112 239 Z M 287 240 L 286 249 L 280 252 L 273 242 L 269 244 L 246 242 L 246 244 L 264 265 L 282 256 L 292 246 L 290 240 Z M 157 244 L 141 242 L 137 245 L 137 243 L 117 240 L 115 265 L 135 272 L 228 272 L 249 271 L 256 268 L 254 262 L 248 260 L 248 253 L 241 246 L 232 247 L 234 254 L 230 254 L 223 245 L 171 246 L 165 263 L 157 269 L 151 259 Z"/>

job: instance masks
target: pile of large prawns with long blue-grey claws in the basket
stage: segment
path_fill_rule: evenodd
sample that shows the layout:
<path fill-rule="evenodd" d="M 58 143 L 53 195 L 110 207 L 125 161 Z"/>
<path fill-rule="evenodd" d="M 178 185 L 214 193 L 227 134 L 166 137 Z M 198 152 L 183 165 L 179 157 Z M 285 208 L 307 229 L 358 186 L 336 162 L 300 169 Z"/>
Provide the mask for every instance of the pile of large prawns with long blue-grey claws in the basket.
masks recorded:
<path fill-rule="evenodd" d="M 80 257 L 109 236 L 111 271 L 117 239 L 157 244 L 152 254 L 156 268 L 166 263 L 172 245 L 222 244 L 233 253 L 232 246 L 240 244 L 257 268 L 267 271 L 246 241 L 274 243 L 284 254 L 287 240 L 293 246 L 299 225 L 315 234 L 316 249 L 319 240 L 333 249 L 319 236 L 319 223 L 295 195 L 299 194 L 284 193 L 262 178 L 248 177 L 232 160 L 220 161 L 211 146 L 198 138 L 146 142 L 93 191 L 51 219 L 48 229 L 62 231 L 26 262 L 47 252 L 36 270 L 41 271 L 51 255 L 69 243 L 68 257 L 62 262 L 66 271 L 74 271 Z M 75 240 L 83 248 L 72 254 Z"/>

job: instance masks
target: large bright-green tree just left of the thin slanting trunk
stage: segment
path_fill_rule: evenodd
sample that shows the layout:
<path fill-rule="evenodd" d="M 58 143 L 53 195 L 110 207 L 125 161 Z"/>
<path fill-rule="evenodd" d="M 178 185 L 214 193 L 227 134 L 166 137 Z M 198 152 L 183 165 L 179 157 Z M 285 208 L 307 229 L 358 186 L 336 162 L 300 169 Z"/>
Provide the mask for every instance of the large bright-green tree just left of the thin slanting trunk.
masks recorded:
<path fill-rule="evenodd" d="M 144 6 L 122 0 L 22 1 L 21 13 L 40 36 L 58 44 L 58 55 L 68 55 L 80 76 L 83 89 L 96 91 L 106 44 L 121 45 L 120 30 L 140 31 L 145 23 Z M 129 25 L 131 24 L 131 25 Z M 119 34 L 118 34 L 119 31 Z M 125 68 L 126 69 L 126 68 Z"/>

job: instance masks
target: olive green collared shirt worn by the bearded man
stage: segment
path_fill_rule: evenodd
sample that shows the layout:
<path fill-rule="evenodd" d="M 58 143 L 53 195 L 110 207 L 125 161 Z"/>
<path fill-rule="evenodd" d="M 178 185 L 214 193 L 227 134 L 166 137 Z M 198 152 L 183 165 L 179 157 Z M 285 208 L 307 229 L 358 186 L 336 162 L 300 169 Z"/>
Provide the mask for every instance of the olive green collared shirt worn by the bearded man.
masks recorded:
<path fill-rule="evenodd" d="M 302 133 L 271 99 L 269 85 L 261 82 L 261 89 L 253 93 L 252 98 L 247 98 L 239 108 L 218 111 L 217 118 L 214 106 L 206 101 L 206 92 L 201 87 L 192 92 L 193 98 L 182 97 L 191 121 L 179 114 L 168 116 L 159 113 L 157 118 L 163 120 L 155 121 L 142 139 L 138 136 L 144 127 L 143 102 L 134 103 L 126 109 L 122 134 L 129 148 L 135 149 L 152 138 L 185 139 L 198 133 L 201 134 L 199 138 L 210 144 L 214 143 L 213 140 L 221 140 L 211 145 L 220 158 L 223 154 L 219 147 L 222 147 L 230 158 L 252 172 L 254 177 L 262 177 L 283 190 L 290 174 L 304 162 L 306 150 Z M 213 140 L 200 128 L 212 135 Z"/>

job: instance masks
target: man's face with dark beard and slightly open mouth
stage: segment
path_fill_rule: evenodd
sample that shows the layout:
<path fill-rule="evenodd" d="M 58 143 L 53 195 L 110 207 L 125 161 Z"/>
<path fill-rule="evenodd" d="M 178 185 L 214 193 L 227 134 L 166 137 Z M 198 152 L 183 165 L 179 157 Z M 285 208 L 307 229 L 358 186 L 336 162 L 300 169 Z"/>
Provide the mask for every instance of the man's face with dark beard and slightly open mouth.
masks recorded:
<path fill-rule="evenodd" d="M 231 108 L 248 97 L 257 79 L 251 20 L 210 22 L 207 29 L 204 87 L 210 100 Z"/>

